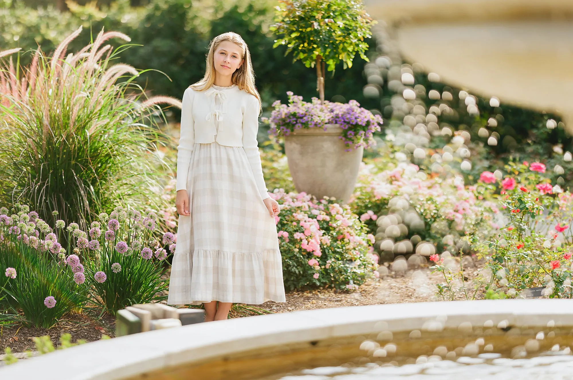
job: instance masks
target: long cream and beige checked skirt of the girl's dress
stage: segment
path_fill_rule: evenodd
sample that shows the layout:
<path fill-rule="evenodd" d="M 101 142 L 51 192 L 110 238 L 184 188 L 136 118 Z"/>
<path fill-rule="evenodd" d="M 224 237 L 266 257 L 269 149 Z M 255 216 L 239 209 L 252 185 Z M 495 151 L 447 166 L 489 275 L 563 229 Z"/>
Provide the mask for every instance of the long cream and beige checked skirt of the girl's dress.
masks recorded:
<path fill-rule="evenodd" d="M 168 304 L 285 301 L 277 228 L 242 147 L 195 143 Z"/>

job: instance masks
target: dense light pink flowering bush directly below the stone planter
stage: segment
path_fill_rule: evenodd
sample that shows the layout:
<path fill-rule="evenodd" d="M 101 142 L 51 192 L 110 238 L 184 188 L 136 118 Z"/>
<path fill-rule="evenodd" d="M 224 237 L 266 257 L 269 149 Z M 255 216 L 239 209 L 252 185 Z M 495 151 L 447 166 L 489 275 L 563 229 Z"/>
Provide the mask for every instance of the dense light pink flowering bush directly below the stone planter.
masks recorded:
<path fill-rule="evenodd" d="M 346 289 L 374 276 L 374 236 L 349 206 L 305 193 L 274 190 L 281 207 L 277 231 L 285 289 L 331 286 Z"/>

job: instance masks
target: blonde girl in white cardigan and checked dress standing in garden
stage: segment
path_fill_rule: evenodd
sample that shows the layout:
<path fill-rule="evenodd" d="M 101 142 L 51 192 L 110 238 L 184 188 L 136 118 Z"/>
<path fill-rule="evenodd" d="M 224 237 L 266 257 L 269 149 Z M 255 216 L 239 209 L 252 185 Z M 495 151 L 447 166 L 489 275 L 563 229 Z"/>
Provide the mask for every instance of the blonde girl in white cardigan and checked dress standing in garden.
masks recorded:
<path fill-rule="evenodd" d="M 168 304 L 201 304 L 205 321 L 232 303 L 285 301 L 275 217 L 257 146 L 261 97 L 237 33 L 209 44 L 205 77 L 183 94 L 177 154 L 177 245 Z"/>

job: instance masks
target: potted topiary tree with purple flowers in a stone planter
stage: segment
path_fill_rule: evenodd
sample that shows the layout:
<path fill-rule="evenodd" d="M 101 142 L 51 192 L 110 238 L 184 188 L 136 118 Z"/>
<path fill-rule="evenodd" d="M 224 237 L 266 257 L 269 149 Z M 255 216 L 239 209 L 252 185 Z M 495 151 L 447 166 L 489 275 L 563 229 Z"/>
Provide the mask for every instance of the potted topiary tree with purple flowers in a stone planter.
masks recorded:
<path fill-rule="evenodd" d="M 270 133 L 284 136 L 285 153 L 297 191 L 348 202 L 354 190 L 364 146 L 372 144 L 382 118 L 360 108 L 324 100 L 324 72 L 336 64 L 352 66 L 356 53 L 364 60 L 372 21 L 358 0 L 279 0 L 270 30 L 281 36 L 273 47 L 307 67 L 316 66 L 319 99 L 311 103 L 289 95 L 289 104 L 275 102 Z M 320 128 L 319 128 L 320 127 Z"/>

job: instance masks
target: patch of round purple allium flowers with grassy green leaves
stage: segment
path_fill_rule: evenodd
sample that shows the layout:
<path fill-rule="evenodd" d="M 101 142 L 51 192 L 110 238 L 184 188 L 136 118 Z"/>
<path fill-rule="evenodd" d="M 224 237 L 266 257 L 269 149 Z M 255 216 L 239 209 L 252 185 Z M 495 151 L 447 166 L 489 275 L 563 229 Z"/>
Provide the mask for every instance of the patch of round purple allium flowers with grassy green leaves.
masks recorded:
<path fill-rule="evenodd" d="M 174 236 L 159 234 L 153 211 L 116 207 L 84 229 L 53 214 L 50 226 L 26 205 L 0 208 L 0 267 L 9 279 L 4 288 L 27 323 L 49 328 L 88 301 L 116 311 L 166 297 L 158 293 L 167 289 L 161 277 Z M 139 253 L 149 246 L 161 254 L 145 260 Z"/>

